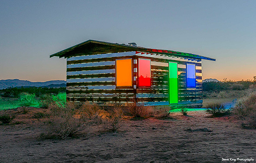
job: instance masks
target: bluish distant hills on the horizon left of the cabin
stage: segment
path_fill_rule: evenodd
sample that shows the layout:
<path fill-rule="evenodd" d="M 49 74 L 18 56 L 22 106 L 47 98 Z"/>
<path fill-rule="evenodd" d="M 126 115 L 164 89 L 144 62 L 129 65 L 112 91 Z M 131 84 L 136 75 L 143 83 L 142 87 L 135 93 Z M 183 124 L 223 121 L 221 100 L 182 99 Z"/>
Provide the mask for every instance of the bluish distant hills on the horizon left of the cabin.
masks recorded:
<path fill-rule="evenodd" d="M 30 82 L 27 80 L 19 80 L 19 79 L 0 80 L 0 89 L 5 89 L 8 87 L 59 88 L 60 86 L 66 87 L 66 81 L 65 80 L 51 80 L 51 81 L 47 81 L 47 82 Z"/>

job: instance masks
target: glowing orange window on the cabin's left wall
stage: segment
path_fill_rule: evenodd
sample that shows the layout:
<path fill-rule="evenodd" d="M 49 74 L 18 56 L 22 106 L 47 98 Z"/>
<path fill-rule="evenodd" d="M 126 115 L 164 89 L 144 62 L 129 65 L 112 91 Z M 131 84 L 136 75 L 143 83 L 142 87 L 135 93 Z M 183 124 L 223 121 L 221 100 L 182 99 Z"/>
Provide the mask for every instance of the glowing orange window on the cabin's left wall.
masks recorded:
<path fill-rule="evenodd" d="M 131 59 L 116 60 L 116 86 L 132 86 Z"/>

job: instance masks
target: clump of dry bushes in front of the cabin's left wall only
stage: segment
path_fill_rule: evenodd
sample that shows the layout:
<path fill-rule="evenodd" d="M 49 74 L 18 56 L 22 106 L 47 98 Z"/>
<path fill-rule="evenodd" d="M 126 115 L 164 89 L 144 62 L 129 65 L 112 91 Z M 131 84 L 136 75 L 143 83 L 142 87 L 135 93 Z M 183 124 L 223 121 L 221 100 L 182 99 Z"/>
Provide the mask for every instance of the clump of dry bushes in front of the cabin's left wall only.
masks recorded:
<path fill-rule="evenodd" d="M 89 102 L 67 102 L 64 107 L 58 103 L 48 105 L 49 114 L 34 115 L 38 118 L 47 118 L 44 122 L 46 132 L 41 137 L 59 137 L 64 140 L 78 133 L 88 136 L 95 125 L 102 124 L 105 130 L 113 133 L 121 127 L 123 112 L 120 107 L 106 112 L 98 104 Z"/>

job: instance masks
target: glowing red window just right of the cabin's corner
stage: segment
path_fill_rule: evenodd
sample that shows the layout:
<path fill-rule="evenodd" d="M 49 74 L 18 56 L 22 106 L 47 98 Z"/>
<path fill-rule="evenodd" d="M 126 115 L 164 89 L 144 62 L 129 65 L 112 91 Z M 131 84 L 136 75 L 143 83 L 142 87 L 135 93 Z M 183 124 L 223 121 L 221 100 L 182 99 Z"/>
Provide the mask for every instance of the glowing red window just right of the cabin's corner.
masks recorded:
<path fill-rule="evenodd" d="M 151 65 L 149 59 L 139 59 L 139 87 L 151 86 Z"/>

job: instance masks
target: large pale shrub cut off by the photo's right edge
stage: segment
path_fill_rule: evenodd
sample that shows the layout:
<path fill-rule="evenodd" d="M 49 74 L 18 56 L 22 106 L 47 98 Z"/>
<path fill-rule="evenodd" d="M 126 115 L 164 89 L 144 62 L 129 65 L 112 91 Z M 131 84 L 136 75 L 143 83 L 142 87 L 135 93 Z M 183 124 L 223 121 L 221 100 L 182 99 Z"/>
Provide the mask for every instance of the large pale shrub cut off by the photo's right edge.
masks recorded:
<path fill-rule="evenodd" d="M 243 120 L 243 127 L 256 128 L 256 91 L 238 99 L 233 113 Z"/>

